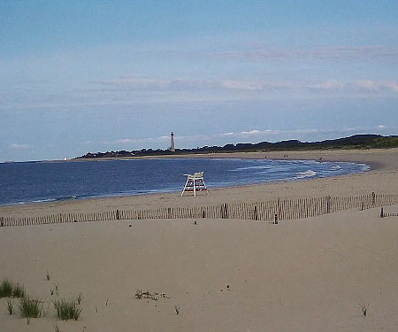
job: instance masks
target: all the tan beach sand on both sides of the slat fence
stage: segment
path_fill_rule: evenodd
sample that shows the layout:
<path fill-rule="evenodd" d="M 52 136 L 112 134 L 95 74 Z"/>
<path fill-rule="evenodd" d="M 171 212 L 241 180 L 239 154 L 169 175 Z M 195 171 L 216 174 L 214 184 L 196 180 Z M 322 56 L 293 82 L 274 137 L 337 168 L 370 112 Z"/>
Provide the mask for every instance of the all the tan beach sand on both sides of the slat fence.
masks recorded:
<path fill-rule="evenodd" d="M 316 158 L 313 153 L 287 154 Z M 3 207 L 0 215 L 203 205 L 326 192 L 397 194 L 397 155 L 397 150 L 322 152 L 324 159 L 375 163 L 371 172 L 340 178 L 217 189 L 209 196 L 182 199 L 172 193 Z M 398 212 L 398 206 L 386 211 Z M 0 228 L 1 280 L 23 283 L 45 308 L 56 298 L 50 294 L 56 284 L 60 297 L 84 293 L 80 320 L 58 320 L 50 305 L 46 317 L 31 320 L 29 326 L 19 314 L 8 315 L 2 298 L 0 331 L 53 331 L 54 323 L 63 332 L 398 330 L 398 217 L 380 219 L 379 209 L 371 209 L 279 225 L 197 221 Z M 166 297 L 137 299 L 139 289 Z M 366 317 L 360 304 L 369 304 Z"/>

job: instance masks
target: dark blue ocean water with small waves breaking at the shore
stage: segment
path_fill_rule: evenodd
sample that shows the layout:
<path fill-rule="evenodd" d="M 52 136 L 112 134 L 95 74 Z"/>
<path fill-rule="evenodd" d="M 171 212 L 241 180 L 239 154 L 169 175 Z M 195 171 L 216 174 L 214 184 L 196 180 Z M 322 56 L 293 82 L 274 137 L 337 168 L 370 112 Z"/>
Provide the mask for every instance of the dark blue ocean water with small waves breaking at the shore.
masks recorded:
<path fill-rule="evenodd" d="M 180 191 L 184 174 L 204 172 L 209 189 L 322 178 L 364 164 L 241 158 L 159 158 L 0 164 L 0 205 Z"/>

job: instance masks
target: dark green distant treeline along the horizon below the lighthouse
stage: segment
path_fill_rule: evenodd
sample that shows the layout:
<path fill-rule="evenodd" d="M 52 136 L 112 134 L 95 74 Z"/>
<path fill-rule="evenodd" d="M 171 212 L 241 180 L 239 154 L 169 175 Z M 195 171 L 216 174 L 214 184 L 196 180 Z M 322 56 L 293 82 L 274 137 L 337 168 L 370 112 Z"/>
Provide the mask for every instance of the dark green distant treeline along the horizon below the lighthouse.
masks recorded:
<path fill-rule="evenodd" d="M 304 150 L 325 150 L 325 149 L 388 149 L 398 147 L 398 135 L 353 135 L 334 140 L 321 142 L 300 142 L 297 140 L 281 141 L 277 143 L 237 143 L 226 144 L 224 146 L 203 146 L 196 149 L 176 149 L 152 150 L 142 149 L 137 151 L 107 151 L 107 152 L 88 152 L 78 158 L 123 158 L 123 157 L 142 157 L 142 156 L 163 156 L 163 155 L 182 155 L 195 153 L 216 153 L 216 152 L 249 152 L 249 151 L 304 151 Z"/>

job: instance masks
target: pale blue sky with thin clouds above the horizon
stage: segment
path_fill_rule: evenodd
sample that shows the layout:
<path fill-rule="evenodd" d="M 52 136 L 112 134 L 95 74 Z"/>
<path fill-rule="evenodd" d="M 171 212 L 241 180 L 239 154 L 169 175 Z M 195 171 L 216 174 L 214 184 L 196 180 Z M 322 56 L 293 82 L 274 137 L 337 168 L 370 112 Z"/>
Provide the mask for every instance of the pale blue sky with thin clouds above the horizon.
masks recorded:
<path fill-rule="evenodd" d="M 0 162 L 398 135 L 398 1 L 0 0 Z"/>

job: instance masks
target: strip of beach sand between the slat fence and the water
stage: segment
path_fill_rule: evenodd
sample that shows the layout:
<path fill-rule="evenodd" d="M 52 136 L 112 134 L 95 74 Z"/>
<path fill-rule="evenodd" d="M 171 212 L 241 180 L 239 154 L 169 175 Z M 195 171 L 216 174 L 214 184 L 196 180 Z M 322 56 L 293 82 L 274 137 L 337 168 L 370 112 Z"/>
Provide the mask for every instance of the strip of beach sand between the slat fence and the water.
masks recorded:
<path fill-rule="evenodd" d="M 283 156 L 287 155 L 287 158 Z M 169 158 L 165 156 L 164 158 Z M 191 155 L 173 158 L 192 158 Z M 209 158 L 209 155 L 195 155 L 195 158 Z M 264 152 L 238 152 L 213 154 L 210 158 L 264 158 Z M 300 181 L 279 181 L 261 184 L 239 185 L 210 189 L 208 196 L 180 197 L 180 191 L 153 193 L 137 196 L 93 197 L 51 201 L 34 204 L 0 206 L 2 216 L 44 215 L 57 212 L 91 212 L 123 209 L 146 209 L 179 205 L 218 205 L 238 201 L 260 201 L 280 198 L 354 196 L 372 191 L 396 194 L 398 188 L 398 149 L 367 151 L 277 151 L 267 153 L 269 159 L 315 160 L 356 162 L 371 166 L 371 170 L 359 174 L 349 174 L 327 178 Z M 349 185 L 348 185 L 349 183 Z M 348 185 L 348 188 L 346 188 Z"/>

